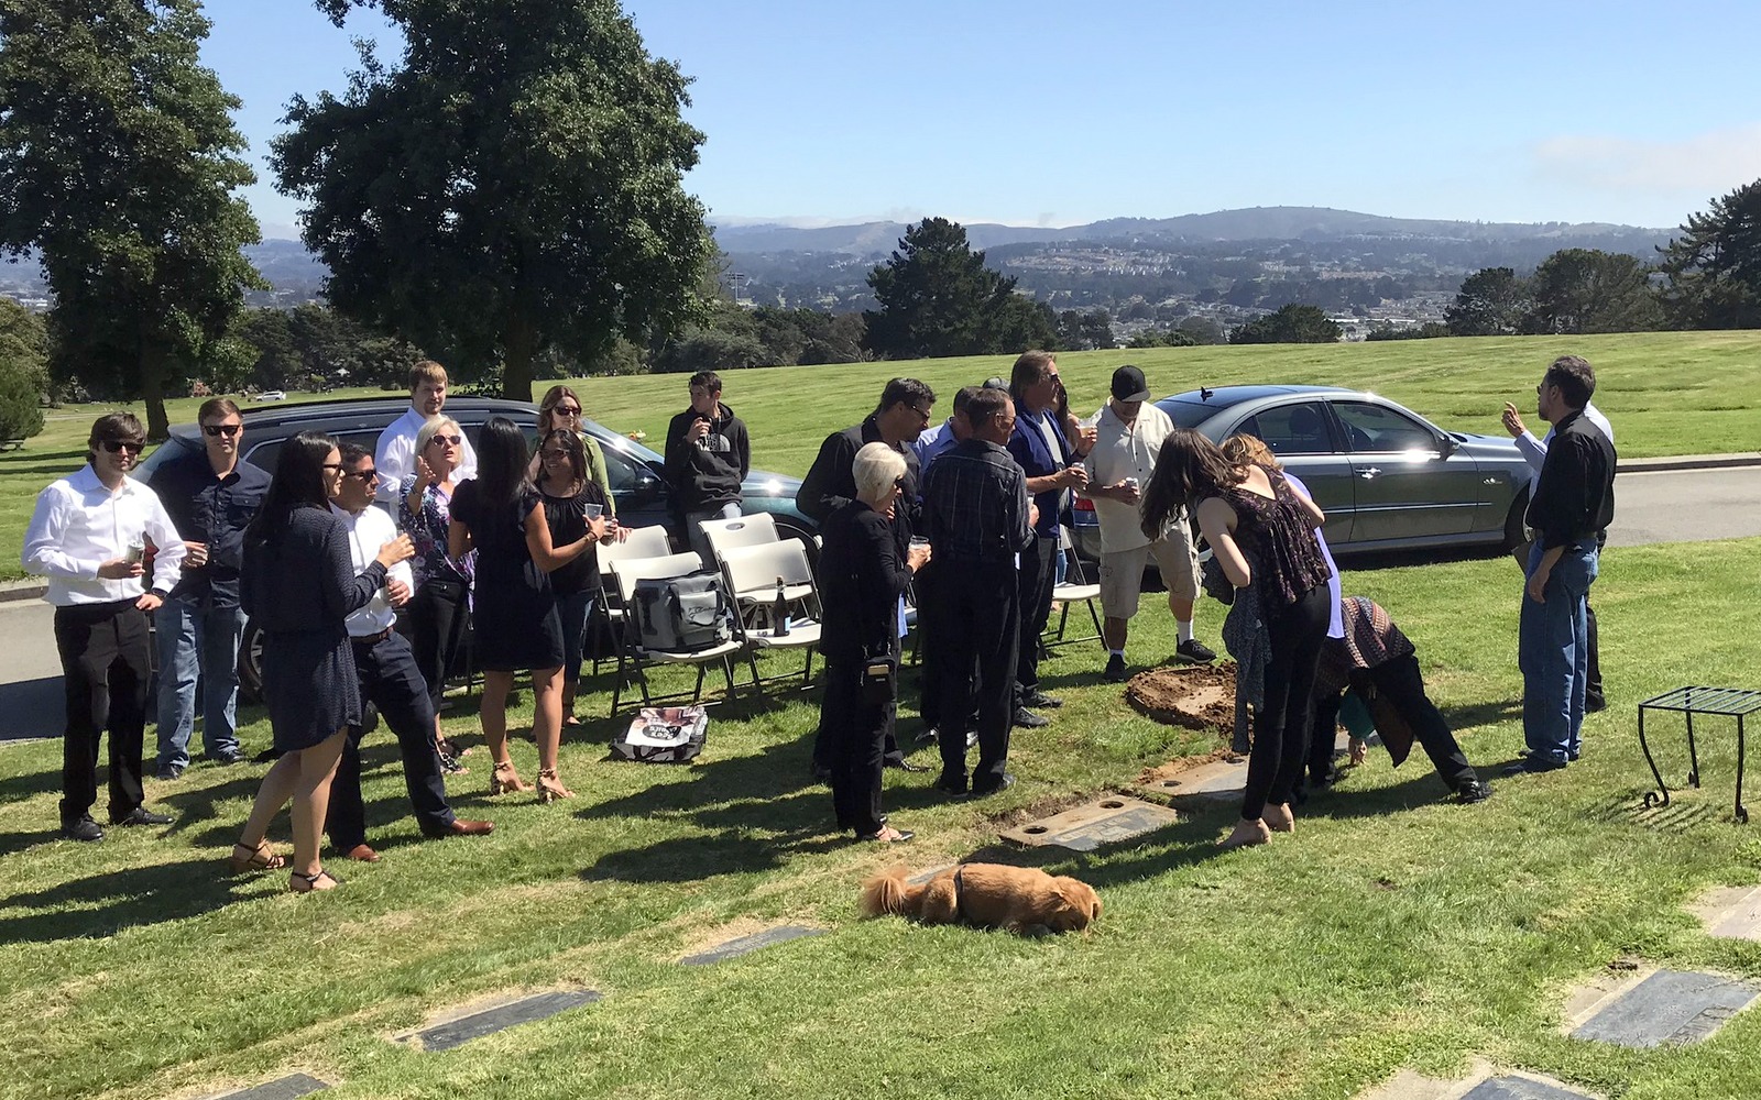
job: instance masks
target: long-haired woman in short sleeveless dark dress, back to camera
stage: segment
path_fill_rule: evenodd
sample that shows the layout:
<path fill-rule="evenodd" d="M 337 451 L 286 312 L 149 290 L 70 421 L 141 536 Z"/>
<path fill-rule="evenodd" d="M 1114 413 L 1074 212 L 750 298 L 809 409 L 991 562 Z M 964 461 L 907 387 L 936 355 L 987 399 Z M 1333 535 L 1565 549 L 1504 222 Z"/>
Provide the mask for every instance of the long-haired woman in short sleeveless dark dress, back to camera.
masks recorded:
<path fill-rule="evenodd" d="M 555 546 L 544 503 L 527 480 L 527 436 L 495 417 L 477 436 L 477 477 L 453 493 L 447 549 L 453 558 L 477 551 L 475 653 L 483 669 L 483 739 L 495 773 L 490 794 L 532 790 L 507 753 L 507 692 L 514 672 L 532 672 L 532 734 L 539 744 L 539 801 L 572 792 L 556 774 L 562 741 L 562 620 L 549 574 L 592 549 L 597 533 Z M 604 533 L 601 524 L 599 533 Z"/>

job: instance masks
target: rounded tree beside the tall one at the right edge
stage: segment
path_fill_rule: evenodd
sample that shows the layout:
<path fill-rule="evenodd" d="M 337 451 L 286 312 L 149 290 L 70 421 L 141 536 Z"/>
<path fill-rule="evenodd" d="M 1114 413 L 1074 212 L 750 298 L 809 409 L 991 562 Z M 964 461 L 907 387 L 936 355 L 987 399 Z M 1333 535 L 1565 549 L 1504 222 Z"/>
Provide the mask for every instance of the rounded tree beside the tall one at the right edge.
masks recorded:
<path fill-rule="evenodd" d="M 1529 287 L 1525 333 L 1643 333 L 1662 324 L 1650 271 L 1620 252 L 1560 248 Z"/>

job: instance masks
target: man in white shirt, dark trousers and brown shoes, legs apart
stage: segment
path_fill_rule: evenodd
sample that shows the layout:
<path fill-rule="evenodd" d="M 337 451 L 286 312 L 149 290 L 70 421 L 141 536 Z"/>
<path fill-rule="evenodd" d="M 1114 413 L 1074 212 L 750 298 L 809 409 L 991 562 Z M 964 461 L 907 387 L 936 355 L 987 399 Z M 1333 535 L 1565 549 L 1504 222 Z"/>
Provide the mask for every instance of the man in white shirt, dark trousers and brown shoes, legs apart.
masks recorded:
<path fill-rule="evenodd" d="M 354 568 L 365 570 L 379 554 L 379 547 L 400 539 L 398 526 L 384 510 L 373 507 L 373 456 L 365 447 L 343 444 L 342 484 L 331 498 L 331 512 L 349 526 L 349 556 Z M 379 708 L 398 737 L 403 755 L 403 785 L 416 806 L 416 822 L 424 836 L 477 836 L 495 825 L 490 822 L 460 820 L 446 803 L 446 783 L 440 780 L 440 755 L 435 746 L 435 713 L 428 702 L 428 683 L 416 665 L 410 642 L 394 630 L 396 609 L 410 602 L 416 576 L 409 561 L 400 561 L 386 572 L 386 586 L 373 593 L 365 607 L 349 616 L 349 641 L 354 642 L 354 667 L 361 678 L 361 699 Z M 366 811 L 361 803 L 361 734 L 354 732 L 343 743 L 331 780 L 329 810 L 324 817 L 331 848 L 345 859 L 379 862 L 379 852 L 366 843 Z"/>

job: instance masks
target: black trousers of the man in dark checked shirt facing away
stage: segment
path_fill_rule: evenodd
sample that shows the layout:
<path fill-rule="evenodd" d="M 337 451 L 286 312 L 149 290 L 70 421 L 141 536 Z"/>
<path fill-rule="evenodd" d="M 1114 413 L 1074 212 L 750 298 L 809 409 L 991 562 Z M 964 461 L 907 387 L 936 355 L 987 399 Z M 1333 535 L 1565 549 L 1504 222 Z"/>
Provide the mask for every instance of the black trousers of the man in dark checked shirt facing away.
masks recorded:
<path fill-rule="evenodd" d="M 1025 561 L 1025 554 L 1023 554 Z M 972 785 L 1000 783 L 1009 762 L 1009 727 L 1014 722 L 1016 646 L 1021 641 L 1020 583 L 1014 563 L 940 563 L 937 581 L 937 656 L 942 665 L 942 715 L 977 709 L 979 762 Z M 1037 639 L 1035 639 L 1037 644 Z M 972 676 L 962 672 L 972 669 Z M 963 722 L 942 725 L 942 771 L 967 774 L 967 730 Z"/>

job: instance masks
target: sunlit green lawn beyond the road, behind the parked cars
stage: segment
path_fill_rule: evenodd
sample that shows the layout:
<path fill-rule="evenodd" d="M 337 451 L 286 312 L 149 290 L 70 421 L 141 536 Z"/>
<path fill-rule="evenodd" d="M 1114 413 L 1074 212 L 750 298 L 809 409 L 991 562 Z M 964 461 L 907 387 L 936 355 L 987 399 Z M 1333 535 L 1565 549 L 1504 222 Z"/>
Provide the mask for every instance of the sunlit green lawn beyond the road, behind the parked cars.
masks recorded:
<path fill-rule="evenodd" d="M 1566 352 L 1583 354 L 1595 366 L 1595 403 L 1613 419 L 1624 458 L 1761 447 L 1761 333 L 1752 331 L 1067 352 L 1058 356 L 1058 366 L 1083 415 L 1106 400 L 1113 368 L 1136 363 L 1159 394 L 1234 382 L 1349 385 L 1393 398 L 1442 428 L 1500 435 L 1504 401 L 1514 401 L 1530 428 L 1544 429 L 1534 417 L 1534 385 Z M 752 431 L 755 466 L 801 475 L 828 433 L 873 408 L 888 378 L 923 378 L 935 387 L 937 412 L 946 415 L 956 389 L 990 375 L 1007 377 L 1013 363 L 1011 356 L 976 356 L 729 371 L 726 401 Z M 541 382 L 535 391 L 542 394 L 548 385 Z M 687 405 L 682 375 L 585 378 L 576 385 L 590 417 L 618 431 L 646 431 L 657 451 L 667 421 Z M 197 405 L 173 401 L 171 422 L 194 421 Z M 107 410 L 53 410 L 48 429 L 25 451 L 0 454 L 0 547 L 7 549 L 0 554 L 0 579 L 23 576 L 18 549 L 37 491 L 85 461 L 92 421 Z"/>

